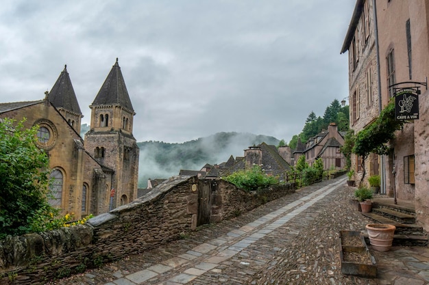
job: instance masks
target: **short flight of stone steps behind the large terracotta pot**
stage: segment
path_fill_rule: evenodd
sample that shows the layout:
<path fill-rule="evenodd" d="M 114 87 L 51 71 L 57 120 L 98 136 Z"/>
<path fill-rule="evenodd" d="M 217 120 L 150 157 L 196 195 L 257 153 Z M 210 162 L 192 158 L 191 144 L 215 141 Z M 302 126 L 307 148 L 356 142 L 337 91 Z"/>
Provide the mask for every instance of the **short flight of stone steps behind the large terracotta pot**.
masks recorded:
<path fill-rule="evenodd" d="M 373 199 L 371 213 L 362 213 L 375 223 L 389 223 L 396 226 L 393 245 L 427 246 L 428 234 L 415 221 L 415 208 L 409 202 L 394 203 L 393 198 Z M 367 236 L 365 236 L 367 239 Z"/>

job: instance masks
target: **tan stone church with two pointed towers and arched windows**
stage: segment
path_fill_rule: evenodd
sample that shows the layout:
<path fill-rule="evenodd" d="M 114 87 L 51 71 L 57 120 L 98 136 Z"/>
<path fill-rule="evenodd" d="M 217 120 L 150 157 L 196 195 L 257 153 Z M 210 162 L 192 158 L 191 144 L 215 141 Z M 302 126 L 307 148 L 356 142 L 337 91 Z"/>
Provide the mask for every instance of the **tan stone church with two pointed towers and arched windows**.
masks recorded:
<path fill-rule="evenodd" d="M 139 149 L 134 109 L 118 59 L 95 96 L 90 131 L 82 139 L 82 111 L 66 66 L 43 100 L 0 103 L 0 118 L 38 126 L 37 144 L 49 155 L 49 202 L 75 219 L 99 215 L 137 198 Z"/>

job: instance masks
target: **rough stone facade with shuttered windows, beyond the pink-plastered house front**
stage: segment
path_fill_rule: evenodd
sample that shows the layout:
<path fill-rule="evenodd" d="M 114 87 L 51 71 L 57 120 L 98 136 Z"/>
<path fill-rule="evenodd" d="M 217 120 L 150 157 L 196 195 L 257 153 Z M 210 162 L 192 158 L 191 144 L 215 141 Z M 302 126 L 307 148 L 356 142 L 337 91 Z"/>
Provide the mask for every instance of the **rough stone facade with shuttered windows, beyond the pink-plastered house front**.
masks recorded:
<path fill-rule="evenodd" d="M 354 133 L 376 120 L 382 106 L 379 94 L 376 33 L 374 31 L 373 1 L 356 1 L 341 53 L 349 51 L 350 128 Z M 363 175 L 360 157 L 352 155 L 355 180 Z M 366 175 L 380 173 L 378 155 L 365 161 Z"/>

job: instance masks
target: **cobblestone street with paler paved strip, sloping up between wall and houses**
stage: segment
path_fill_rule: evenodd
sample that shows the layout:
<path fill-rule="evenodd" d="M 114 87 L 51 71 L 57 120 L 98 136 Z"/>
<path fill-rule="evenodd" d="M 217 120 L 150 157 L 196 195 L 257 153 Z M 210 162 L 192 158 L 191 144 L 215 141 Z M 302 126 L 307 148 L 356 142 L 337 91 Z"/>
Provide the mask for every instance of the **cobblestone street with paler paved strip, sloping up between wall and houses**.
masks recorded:
<path fill-rule="evenodd" d="M 345 177 L 208 225 L 164 247 L 52 284 L 428 284 L 429 249 L 373 252 L 378 278 L 341 273 L 339 231 L 370 223 Z"/>

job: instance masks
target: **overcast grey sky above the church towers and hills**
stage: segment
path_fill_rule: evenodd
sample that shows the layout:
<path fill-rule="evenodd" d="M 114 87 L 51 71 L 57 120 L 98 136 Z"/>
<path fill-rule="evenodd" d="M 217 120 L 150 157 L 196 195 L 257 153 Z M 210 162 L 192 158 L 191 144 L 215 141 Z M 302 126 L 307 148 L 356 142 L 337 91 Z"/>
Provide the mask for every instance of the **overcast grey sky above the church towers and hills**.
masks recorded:
<path fill-rule="evenodd" d="M 217 132 L 289 142 L 348 93 L 354 0 L 3 0 L 0 102 L 40 100 L 67 65 L 89 105 L 117 57 L 137 141 Z"/>

